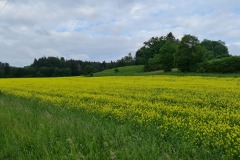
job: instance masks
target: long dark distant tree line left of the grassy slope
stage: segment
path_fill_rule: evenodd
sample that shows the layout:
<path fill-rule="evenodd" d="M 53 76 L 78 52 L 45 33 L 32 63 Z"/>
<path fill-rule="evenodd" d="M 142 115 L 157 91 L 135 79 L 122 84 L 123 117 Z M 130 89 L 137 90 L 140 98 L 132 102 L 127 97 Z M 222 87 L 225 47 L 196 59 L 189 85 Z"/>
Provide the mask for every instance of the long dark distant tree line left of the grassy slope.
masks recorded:
<path fill-rule="evenodd" d="M 81 60 L 65 60 L 63 57 L 42 57 L 26 67 L 13 67 L 0 62 L 0 77 L 62 77 L 92 76 L 93 73 L 106 69 L 134 65 L 131 53 L 117 61 L 90 62 Z"/>

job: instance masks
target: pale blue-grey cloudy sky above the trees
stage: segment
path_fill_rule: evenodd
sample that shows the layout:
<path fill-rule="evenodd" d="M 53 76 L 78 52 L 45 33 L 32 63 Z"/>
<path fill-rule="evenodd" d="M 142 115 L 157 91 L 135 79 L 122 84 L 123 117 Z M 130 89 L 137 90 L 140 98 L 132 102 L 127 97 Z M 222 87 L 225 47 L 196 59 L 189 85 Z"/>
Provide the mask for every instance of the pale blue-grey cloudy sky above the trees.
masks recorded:
<path fill-rule="evenodd" d="M 117 60 L 170 31 L 223 40 L 230 54 L 240 55 L 239 0 L 6 2 L 0 0 L 0 61 L 13 66 L 42 56 Z"/>

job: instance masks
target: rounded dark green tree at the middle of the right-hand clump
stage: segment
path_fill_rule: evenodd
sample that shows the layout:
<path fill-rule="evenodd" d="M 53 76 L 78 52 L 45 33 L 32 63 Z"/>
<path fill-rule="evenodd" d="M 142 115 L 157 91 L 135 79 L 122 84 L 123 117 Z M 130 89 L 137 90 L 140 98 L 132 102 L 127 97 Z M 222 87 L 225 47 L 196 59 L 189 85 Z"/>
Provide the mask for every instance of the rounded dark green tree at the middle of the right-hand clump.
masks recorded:
<path fill-rule="evenodd" d="M 196 71 L 198 63 L 204 61 L 205 51 L 197 37 L 185 35 L 176 53 L 177 67 L 182 72 Z"/>

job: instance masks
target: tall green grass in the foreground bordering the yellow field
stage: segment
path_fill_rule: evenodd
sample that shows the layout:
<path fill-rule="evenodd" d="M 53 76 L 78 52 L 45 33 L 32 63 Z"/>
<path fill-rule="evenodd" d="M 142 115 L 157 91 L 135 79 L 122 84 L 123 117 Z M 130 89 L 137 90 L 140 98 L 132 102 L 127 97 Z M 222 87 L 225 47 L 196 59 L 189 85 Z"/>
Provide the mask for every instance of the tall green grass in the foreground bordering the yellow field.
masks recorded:
<path fill-rule="evenodd" d="M 0 159 L 222 159 L 159 131 L 0 93 Z"/>

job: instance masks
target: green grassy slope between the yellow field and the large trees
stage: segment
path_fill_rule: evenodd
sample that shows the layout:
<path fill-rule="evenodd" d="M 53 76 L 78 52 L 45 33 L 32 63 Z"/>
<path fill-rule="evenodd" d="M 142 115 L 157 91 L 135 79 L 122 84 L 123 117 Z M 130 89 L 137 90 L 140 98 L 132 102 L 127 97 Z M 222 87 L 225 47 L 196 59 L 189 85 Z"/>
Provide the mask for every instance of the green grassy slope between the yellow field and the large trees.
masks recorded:
<path fill-rule="evenodd" d="M 94 73 L 94 77 L 100 76 L 150 76 L 150 75 L 172 75 L 172 76 L 207 76 L 207 77 L 240 77 L 237 73 L 195 73 L 195 72 L 180 72 L 177 68 L 174 68 L 172 72 L 164 72 L 163 70 L 144 72 L 143 65 L 118 67 L 118 72 L 115 72 L 116 68 L 107 69 L 101 72 Z"/>

